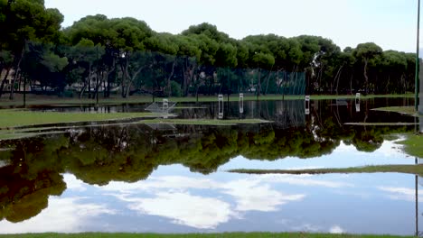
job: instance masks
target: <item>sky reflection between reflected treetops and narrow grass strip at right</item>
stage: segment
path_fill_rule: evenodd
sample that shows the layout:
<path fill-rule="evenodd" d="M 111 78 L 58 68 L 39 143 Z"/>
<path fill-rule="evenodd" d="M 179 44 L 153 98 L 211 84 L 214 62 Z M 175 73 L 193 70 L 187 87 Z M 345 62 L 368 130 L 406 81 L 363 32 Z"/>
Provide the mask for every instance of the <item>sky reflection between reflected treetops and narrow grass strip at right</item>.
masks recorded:
<path fill-rule="evenodd" d="M 220 170 L 227 169 L 320 169 L 349 168 L 366 165 L 414 164 L 414 158 L 400 150 L 399 144 L 385 141 L 376 151 L 371 153 L 357 151 L 353 145 L 341 142 L 330 155 L 318 158 L 298 159 L 288 157 L 281 160 L 247 160 L 238 156 L 222 165 Z"/>

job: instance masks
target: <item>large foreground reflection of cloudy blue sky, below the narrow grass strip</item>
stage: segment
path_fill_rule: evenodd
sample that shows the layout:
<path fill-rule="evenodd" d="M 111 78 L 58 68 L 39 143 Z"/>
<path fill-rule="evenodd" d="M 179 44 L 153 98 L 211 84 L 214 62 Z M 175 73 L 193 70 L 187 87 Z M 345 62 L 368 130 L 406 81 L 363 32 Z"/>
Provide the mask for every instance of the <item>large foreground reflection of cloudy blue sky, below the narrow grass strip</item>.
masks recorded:
<path fill-rule="evenodd" d="M 0 233 L 414 233 L 413 175 L 204 176 L 173 165 L 135 183 L 65 180 L 68 189 L 40 215 L 2 221 Z"/>

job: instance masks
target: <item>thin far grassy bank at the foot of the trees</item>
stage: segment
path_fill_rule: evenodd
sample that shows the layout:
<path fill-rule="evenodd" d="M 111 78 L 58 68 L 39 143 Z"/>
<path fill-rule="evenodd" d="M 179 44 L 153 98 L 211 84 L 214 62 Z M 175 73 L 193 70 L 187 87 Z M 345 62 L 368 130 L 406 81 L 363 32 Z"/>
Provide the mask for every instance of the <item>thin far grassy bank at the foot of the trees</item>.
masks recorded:
<path fill-rule="evenodd" d="M 369 95 L 369 96 L 362 96 L 362 99 L 370 99 L 370 98 L 390 98 L 390 97 L 409 97 L 412 98 L 412 94 L 407 95 Z M 282 96 L 282 95 L 267 95 L 267 96 L 259 96 L 259 100 L 262 101 L 269 101 L 269 100 L 297 100 L 297 99 L 304 99 L 304 96 Z M 336 98 L 346 98 L 346 99 L 353 99 L 355 98 L 354 95 L 320 95 L 320 96 L 311 96 L 312 100 L 329 100 L 329 99 L 336 99 Z M 155 101 L 159 102 L 162 101 L 163 98 L 155 97 Z M 230 96 L 230 101 L 239 101 L 240 97 L 238 94 L 234 94 Z M 196 97 L 194 96 L 186 96 L 186 97 L 170 97 L 170 101 L 173 102 L 196 102 Z M 228 97 L 225 95 L 224 100 L 227 101 Z M 255 101 L 257 100 L 257 96 L 245 94 L 244 101 Z M 216 102 L 217 96 L 199 96 L 199 102 Z M 6 97 L 0 98 L 0 105 L 2 106 L 16 106 L 16 105 L 23 105 L 23 98 L 21 95 L 16 95 L 14 100 L 9 100 Z M 137 104 L 137 103 L 152 103 L 153 97 L 152 96 L 129 96 L 127 98 L 122 98 L 120 96 L 111 96 L 110 98 L 99 98 L 99 104 L 101 105 L 108 105 L 108 104 Z M 79 99 L 78 97 L 59 97 L 59 96 L 36 96 L 36 95 L 28 95 L 26 100 L 26 105 L 95 105 L 96 100 L 83 98 Z"/>

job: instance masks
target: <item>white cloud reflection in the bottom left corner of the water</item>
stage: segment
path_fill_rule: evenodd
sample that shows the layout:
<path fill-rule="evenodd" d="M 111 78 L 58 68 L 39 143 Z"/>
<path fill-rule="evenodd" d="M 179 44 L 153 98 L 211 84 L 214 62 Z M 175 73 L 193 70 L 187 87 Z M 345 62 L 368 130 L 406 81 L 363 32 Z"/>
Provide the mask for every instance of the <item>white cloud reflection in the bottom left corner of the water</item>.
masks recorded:
<path fill-rule="evenodd" d="M 50 197 L 49 207 L 40 215 L 19 224 L 0 222 L 0 233 L 79 233 L 88 217 L 116 213 L 97 204 L 79 204 L 80 200 Z"/>

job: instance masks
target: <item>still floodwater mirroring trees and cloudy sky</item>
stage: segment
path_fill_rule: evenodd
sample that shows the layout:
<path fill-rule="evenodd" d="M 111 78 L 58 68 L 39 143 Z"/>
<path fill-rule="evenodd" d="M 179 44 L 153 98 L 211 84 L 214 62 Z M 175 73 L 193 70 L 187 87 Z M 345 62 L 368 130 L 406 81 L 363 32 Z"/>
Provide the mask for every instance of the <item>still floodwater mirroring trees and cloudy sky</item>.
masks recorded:
<path fill-rule="evenodd" d="M 225 102 L 226 103 L 226 102 Z M 228 169 L 414 164 L 396 143 L 416 119 L 372 111 L 404 99 L 226 104 L 231 126 L 98 124 L 0 142 L 0 233 L 232 231 L 414 234 L 423 178 L 400 173 L 248 175 Z M 147 105 L 33 110 L 143 111 Z M 216 118 L 183 104 L 179 118 Z M 407 123 L 375 126 L 347 123 Z M 91 124 L 92 125 L 92 124 Z M 393 136 L 394 134 L 395 136 Z M 421 189 L 420 189 L 421 190 Z M 419 192 L 421 193 L 421 191 Z"/>

